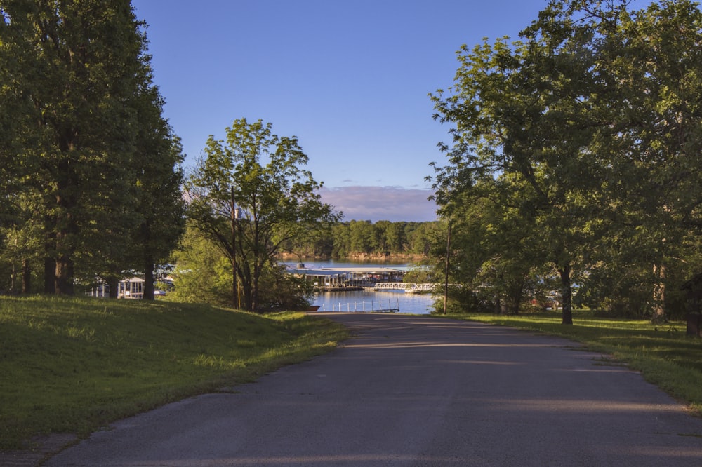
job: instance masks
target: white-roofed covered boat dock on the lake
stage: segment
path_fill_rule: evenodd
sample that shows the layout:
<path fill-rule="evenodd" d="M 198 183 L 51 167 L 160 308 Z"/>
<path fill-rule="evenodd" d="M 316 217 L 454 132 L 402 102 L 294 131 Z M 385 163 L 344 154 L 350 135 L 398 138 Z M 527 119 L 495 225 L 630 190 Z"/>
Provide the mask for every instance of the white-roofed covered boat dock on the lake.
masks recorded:
<path fill-rule="evenodd" d="M 319 290 L 363 290 L 372 288 L 381 282 L 402 282 L 407 273 L 406 267 L 345 267 L 333 268 L 307 268 L 304 264 L 290 267 L 288 271 L 305 278 Z"/>

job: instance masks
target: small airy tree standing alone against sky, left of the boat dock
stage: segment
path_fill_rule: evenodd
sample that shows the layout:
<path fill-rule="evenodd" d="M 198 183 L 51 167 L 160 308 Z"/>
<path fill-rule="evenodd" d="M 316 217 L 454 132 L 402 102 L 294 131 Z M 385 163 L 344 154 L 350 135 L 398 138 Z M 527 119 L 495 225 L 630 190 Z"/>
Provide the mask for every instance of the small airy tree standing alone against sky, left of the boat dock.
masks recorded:
<path fill-rule="evenodd" d="M 209 137 L 187 180 L 188 214 L 236 264 L 244 306 L 258 311 L 259 280 L 265 269 L 274 269 L 282 245 L 338 215 L 322 203 L 322 184 L 305 170 L 307 155 L 297 137 L 274 135 L 271 123 L 260 120 L 235 120 L 226 131 L 226 141 Z"/>

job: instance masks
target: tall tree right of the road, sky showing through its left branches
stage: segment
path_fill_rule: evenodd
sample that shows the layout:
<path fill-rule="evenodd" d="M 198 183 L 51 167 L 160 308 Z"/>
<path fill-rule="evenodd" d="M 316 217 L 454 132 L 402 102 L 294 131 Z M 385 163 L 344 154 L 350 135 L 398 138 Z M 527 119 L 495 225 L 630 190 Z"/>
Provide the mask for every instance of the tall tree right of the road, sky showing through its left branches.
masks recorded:
<path fill-rule="evenodd" d="M 496 184 L 492 196 L 505 208 L 517 193 L 519 214 L 541 237 L 541 257 L 561 277 L 562 323 L 572 324 L 571 274 L 590 213 L 601 208 L 590 196 L 600 179 L 586 150 L 596 125 L 592 35 L 554 3 L 522 36 L 511 46 L 504 39 L 464 46 L 452 95 L 432 96 L 435 118 L 456 124 L 453 147 L 443 147 L 451 165 L 437 172 L 437 201 L 451 216 L 463 191 Z"/>

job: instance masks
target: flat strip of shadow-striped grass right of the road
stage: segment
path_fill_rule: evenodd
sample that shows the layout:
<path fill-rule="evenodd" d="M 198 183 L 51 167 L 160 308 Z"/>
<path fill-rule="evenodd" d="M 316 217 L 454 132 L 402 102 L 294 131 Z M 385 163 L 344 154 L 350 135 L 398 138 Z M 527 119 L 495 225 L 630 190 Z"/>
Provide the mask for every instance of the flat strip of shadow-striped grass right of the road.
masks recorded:
<path fill-rule="evenodd" d="M 598 318 L 589 311 L 574 311 L 574 325 L 562 325 L 560 313 L 554 312 L 449 318 L 517 327 L 580 342 L 588 350 L 611 356 L 612 363 L 640 371 L 644 379 L 702 415 L 702 339 L 688 336 L 684 322 L 654 325 L 648 320 Z"/>

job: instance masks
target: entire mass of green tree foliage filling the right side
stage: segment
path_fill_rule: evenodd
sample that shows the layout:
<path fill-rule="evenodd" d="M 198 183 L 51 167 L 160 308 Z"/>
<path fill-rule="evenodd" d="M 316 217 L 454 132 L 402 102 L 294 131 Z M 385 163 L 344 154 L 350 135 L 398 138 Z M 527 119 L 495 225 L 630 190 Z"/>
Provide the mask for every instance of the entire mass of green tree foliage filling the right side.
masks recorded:
<path fill-rule="evenodd" d="M 432 95 L 452 125 L 435 166 L 451 278 L 498 308 L 557 289 L 566 324 L 573 302 L 685 311 L 702 270 L 702 13 L 628 3 L 552 0 L 519 41 L 463 46 Z"/>

